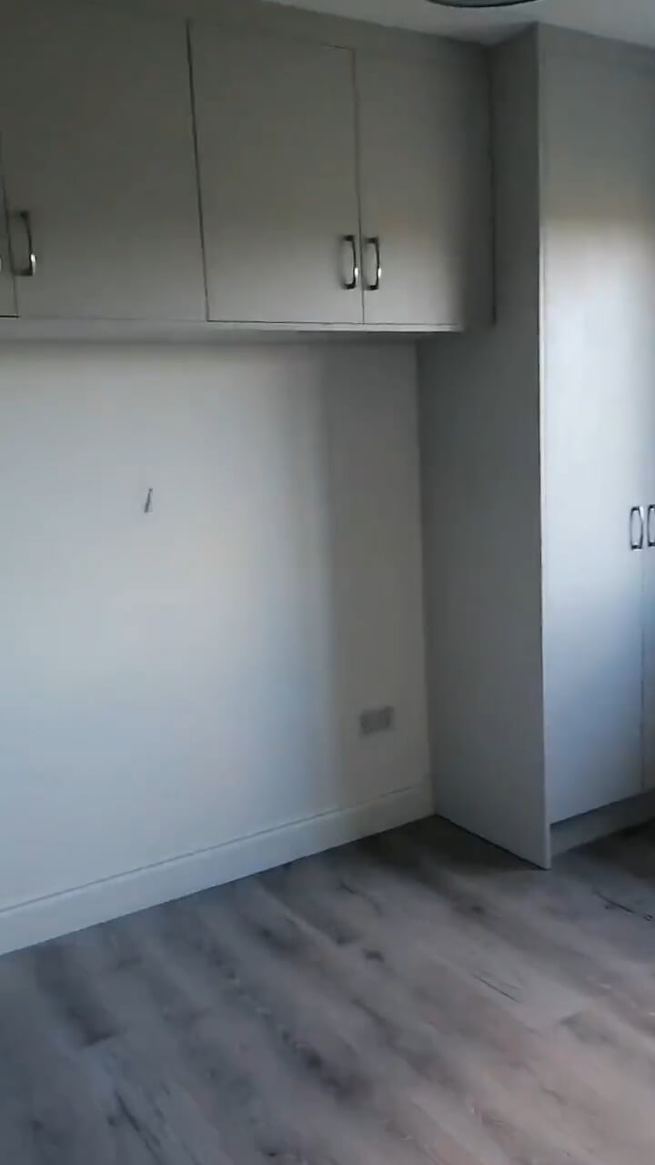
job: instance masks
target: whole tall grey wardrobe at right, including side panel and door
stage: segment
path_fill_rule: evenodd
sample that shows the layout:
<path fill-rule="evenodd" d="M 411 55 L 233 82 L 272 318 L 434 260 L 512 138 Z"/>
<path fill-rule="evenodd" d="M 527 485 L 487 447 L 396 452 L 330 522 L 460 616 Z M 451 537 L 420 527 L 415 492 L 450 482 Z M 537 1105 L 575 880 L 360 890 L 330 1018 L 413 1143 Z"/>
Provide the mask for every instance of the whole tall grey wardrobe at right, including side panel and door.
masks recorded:
<path fill-rule="evenodd" d="M 655 54 L 542 28 L 493 106 L 498 326 L 422 358 L 436 803 L 548 864 L 655 784 Z"/>

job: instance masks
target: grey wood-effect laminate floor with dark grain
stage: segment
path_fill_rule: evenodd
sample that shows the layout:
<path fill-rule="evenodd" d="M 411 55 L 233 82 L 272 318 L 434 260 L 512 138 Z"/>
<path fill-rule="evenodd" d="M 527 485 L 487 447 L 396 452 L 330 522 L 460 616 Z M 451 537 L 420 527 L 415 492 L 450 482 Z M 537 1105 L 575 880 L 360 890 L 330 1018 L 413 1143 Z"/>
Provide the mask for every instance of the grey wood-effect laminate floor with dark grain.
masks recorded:
<path fill-rule="evenodd" d="M 437 821 L 0 960 L 2 1165 L 653 1165 L 655 831 Z"/>

